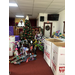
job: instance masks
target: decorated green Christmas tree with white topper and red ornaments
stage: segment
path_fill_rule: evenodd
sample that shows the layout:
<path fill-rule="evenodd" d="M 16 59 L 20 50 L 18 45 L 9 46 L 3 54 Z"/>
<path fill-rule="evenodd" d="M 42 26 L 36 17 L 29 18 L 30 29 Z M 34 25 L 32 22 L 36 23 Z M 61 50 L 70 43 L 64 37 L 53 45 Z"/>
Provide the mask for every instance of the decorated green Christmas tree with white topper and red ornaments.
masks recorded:
<path fill-rule="evenodd" d="M 25 39 L 27 39 L 27 40 L 28 39 L 34 39 L 33 30 L 32 30 L 31 23 L 29 21 L 28 16 L 26 16 L 25 24 L 23 26 L 23 32 L 21 35 L 21 40 L 25 40 Z"/>

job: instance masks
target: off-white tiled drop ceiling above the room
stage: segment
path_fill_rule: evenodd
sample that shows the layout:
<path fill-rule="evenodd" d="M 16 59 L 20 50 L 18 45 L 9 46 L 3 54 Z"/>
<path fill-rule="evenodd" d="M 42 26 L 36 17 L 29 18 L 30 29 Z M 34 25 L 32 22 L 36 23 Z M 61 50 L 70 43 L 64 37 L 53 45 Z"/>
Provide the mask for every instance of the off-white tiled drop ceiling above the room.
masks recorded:
<path fill-rule="evenodd" d="M 37 18 L 39 13 L 59 13 L 65 9 L 65 0 L 9 0 L 18 7 L 9 7 L 9 17 L 30 14 L 29 18 Z"/>

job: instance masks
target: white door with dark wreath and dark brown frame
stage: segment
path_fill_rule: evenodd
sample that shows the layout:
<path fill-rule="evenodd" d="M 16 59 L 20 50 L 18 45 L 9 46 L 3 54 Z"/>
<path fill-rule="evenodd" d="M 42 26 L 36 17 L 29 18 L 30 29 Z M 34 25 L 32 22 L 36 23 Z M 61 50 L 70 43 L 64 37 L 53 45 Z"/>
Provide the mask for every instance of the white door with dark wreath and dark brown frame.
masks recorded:
<path fill-rule="evenodd" d="M 52 35 L 52 23 L 44 22 L 44 36 L 51 37 Z"/>

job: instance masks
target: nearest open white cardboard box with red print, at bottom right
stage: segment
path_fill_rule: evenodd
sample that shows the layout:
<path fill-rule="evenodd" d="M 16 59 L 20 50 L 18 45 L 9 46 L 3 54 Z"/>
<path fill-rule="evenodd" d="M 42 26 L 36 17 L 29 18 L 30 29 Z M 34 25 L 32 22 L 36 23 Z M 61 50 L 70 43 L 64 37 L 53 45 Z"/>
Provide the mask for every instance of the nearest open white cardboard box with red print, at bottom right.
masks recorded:
<path fill-rule="evenodd" d="M 52 71 L 54 75 L 65 75 L 65 42 L 52 43 Z"/>

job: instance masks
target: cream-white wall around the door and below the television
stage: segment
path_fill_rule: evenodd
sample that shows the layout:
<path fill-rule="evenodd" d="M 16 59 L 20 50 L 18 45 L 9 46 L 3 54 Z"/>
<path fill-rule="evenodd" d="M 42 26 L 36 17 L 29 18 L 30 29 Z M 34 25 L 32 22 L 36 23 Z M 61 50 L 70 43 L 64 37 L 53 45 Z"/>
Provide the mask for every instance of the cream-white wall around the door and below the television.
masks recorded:
<path fill-rule="evenodd" d="M 44 22 L 47 22 L 47 15 L 50 13 L 39 13 L 37 17 L 37 27 L 43 28 Z M 59 20 L 58 21 L 49 21 L 52 22 L 52 33 L 60 30 L 61 33 L 63 33 L 63 21 L 65 21 L 65 10 L 58 13 L 59 14 Z M 44 16 L 44 21 L 40 21 L 40 16 Z"/>

